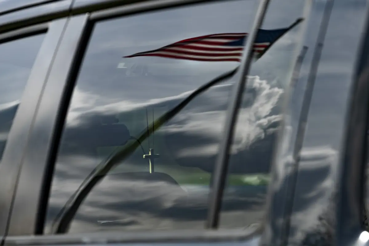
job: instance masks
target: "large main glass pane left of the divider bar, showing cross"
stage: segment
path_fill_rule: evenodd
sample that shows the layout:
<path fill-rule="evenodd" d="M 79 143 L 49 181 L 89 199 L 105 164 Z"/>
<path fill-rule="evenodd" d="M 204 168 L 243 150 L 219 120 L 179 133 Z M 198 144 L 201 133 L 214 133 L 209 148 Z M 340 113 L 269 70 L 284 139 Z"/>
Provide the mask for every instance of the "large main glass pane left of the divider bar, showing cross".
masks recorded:
<path fill-rule="evenodd" d="M 249 31 L 257 4 L 201 4 L 95 25 L 59 146 L 46 232 L 63 206 L 69 208 L 68 199 L 81 184 L 93 188 L 83 195 L 65 232 L 204 229 L 225 110 L 238 77 L 201 93 L 160 127 L 156 119 L 239 65 L 244 44 L 240 37 Z M 200 37 L 212 34 L 224 36 Z M 184 39 L 191 39 L 186 48 L 175 44 L 170 52 L 156 53 L 160 56 L 147 52 Z M 122 58 L 137 52 L 147 56 Z M 153 127 L 158 129 L 142 137 Z M 102 172 L 104 165 L 94 169 L 116 149 L 127 152 Z M 248 182 L 244 175 L 230 177 Z M 249 223 L 233 220 L 225 220 L 225 226 Z"/>

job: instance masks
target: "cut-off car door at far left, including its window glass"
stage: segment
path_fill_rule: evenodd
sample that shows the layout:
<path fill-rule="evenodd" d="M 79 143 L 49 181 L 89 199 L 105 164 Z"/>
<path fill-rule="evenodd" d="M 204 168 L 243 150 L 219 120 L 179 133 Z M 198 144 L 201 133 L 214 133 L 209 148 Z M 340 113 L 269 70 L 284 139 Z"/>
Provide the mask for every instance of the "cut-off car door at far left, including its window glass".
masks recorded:
<path fill-rule="evenodd" d="M 0 3 L 2 239 L 7 233 L 29 132 L 66 25 L 66 18 L 61 17 L 63 13 L 68 15 L 71 3 L 59 1 L 21 10 L 18 3 Z M 58 20 L 54 20 L 56 17 Z"/>

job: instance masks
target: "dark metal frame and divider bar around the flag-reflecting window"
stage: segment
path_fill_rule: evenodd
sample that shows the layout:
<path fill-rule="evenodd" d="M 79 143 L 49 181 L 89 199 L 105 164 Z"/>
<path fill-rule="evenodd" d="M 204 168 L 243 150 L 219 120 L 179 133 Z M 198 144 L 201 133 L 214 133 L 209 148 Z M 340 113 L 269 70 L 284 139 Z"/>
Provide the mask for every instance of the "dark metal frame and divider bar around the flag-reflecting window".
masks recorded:
<path fill-rule="evenodd" d="M 215 0 L 219 1 L 219 0 Z M 78 1 L 76 1 L 78 2 Z M 117 2 L 117 1 L 111 1 Z M 20 205 L 16 207 L 17 209 L 13 210 L 12 218 L 11 218 L 11 226 L 9 230 L 9 236 L 6 239 L 7 244 L 63 244 L 63 243 L 83 243 L 83 237 L 88 236 L 90 242 L 101 242 L 101 239 L 104 238 L 104 242 L 120 242 L 120 243 L 132 243 L 132 242 L 243 242 L 246 239 L 254 238 L 255 234 L 260 232 L 261 228 L 257 229 L 232 229 L 232 230 L 211 230 L 217 227 L 216 216 L 219 215 L 219 206 L 214 206 L 209 209 L 211 212 L 209 213 L 208 228 L 210 230 L 204 231 L 167 231 L 167 232 L 111 232 L 111 233 L 79 233 L 79 234 L 65 234 L 65 235 L 42 235 L 44 230 L 44 222 L 45 216 L 40 213 L 40 211 L 46 211 L 46 206 L 48 204 L 49 199 L 49 190 L 51 185 L 51 179 L 53 176 L 54 166 L 56 155 L 58 152 L 58 145 L 60 141 L 60 137 L 62 134 L 63 125 L 65 123 L 65 117 L 68 111 L 70 98 L 76 83 L 76 77 L 79 73 L 80 65 L 83 60 L 84 53 L 87 48 L 87 44 L 91 37 L 91 33 L 93 30 L 94 23 L 97 21 L 102 21 L 106 19 L 123 17 L 125 15 L 131 15 L 136 13 L 147 13 L 149 11 L 155 10 L 163 10 L 166 8 L 180 7 L 180 6 L 188 6 L 190 4 L 198 4 L 198 3 L 211 3 L 214 2 L 211 0 L 157 0 L 157 1 L 144 1 L 136 4 L 125 4 L 119 7 L 106 9 L 106 10 L 97 10 L 92 13 L 84 13 L 81 14 L 82 8 L 76 8 L 76 10 L 72 7 L 73 16 L 70 17 L 68 22 L 68 27 L 66 28 L 65 34 L 63 36 L 63 40 L 61 42 L 61 46 L 58 50 L 58 55 L 56 56 L 54 65 L 51 69 L 50 76 L 48 82 L 45 86 L 45 93 L 41 99 L 39 114 L 42 115 L 44 112 L 52 108 L 54 110 L 54 114 L 48 119 L 47 130 L 45 133 L 41 133 L 39 131 L 41 129 L 41 121 L 42 117 L 37 116 L 35 119 L 35 127 L 34 131 L 31 132 L 30 142 L 34 142 L 34 144 L 30 145 L 30 148 L 27 150 L 25 155 L 25 159 L 27 160 L 29 156 L 31 156 L 32 152 L 37 151 L 38 158 L 33 158 L 30 161 L 26 161 L 24 166 L 22 167 L 20 184 L 18 187 L 17 196 L 15 197 L 15 203 L 19 203 Z M 262 21 L 264 19 L 264 15 L 266 12 L 266 8 L 268 6 L 269 0 L 262 0 L 259 3 L 258 11 L 256 13 L 256 18 L 254 23 L 252 24 L 252 31 L 249 34 L 249 38 L 247 39 L 245 45 L 244 56 L 242 59 L 241 66 L 239 71 L 241 75 L 239 77 L 245 77 L 248 73 L 249 66 L 251 64 L 251 52 L 252 52 L 252 42 L 256 37 L 256 30 L 261 27 Z M 96 6 L 95 6 L 96 7 Z M 101 7 L 101 6 L 100 6 Z M 106 5 L 102 5 L 101 8 L 105 8 Z M 88 7 L 84 8 L 84 10 L 89 10 Z M 245 26 L 246 28 L 246 26 Z M 66 55 L 68 54 L 68 55 Z M 212 189 L 212 198 L 211 204 L 217 202 L 220 204 L 221 201 L 221 190 L 224 188 L 224 180 L 226 178 L 226 172 L 222 172 L 222 170 L 227 170 L 229 148 L 231 143 L 231 136 L 234 129 L 235 124 L 235 116 L 237 115 L 237 111 L 240 104 L 240 99 L 242 97 L 243 88 L 245 86 L 245 79 L 239 80 L 237 86 L 233 91 L 233 95 L 235 98 L 234 101 L 231 102 L 229 108 L 227 110 L 227 114 L 230 119 L 227 122 L 226 126 L 226 134 L 225 138 L 228 141 L 224 141 L 222 147 L 223 156 L 217 162 L 218 171 L 215 173 L 215 189 Z M 54 93 L 52 96 L 49 96 L 49 92 L 58 91 L 56 94 Z M 236 100 L 237 99 L 237 100 Z M 48 103 L 46 103 L 46 101 Z M 43 129 L 45 130 L 45 129 Z M 41 136 L 40 136 L 41 134 Z M 45 140 L 41 143 L 37 141 L 37 138 L 41 137 Z M 31 170 L 34 165 L 38 165 L 39 168 L 39 176 L 35 177 L 35 180 L 39 180 L 37 186 L 32 187 L 33 191 L 30 190 L 30 187 L 27 187 L 26 180 L 24 177 L 27 176 L 27 173 Z M 22 176 L 24 175 L 24 177 Z M 47 186 L 44 184 L 48 184 Z M 21 194 L 29 194 L 32 193 L 34 199 L 32 201 L 28 201 L 27 206 L 31 207 L 33 213 L 31 211 L 22 212 L 23 208 L 21 205 L 22 197 Z M 215 203 L 214 203 L 215 204 Z M 23 205 L 24 207 L 24 205 Z M 30 210 L 30 209 L 28 209 Z M 32 216 L 29 216 L 32 213 Z M 35 216 L 38 214 L 38 216 Z M 24 216 L 28 216 L 30 218 L 28 225 L 21 225 L 21 220 Z M 31 220 L 32 218 L 32 220 Z M 12 223 L 14 222 L 13 226 Z M 214 223 L 215 221 L 215 223 Z M 24 236 L 23 236 L 24 235 Z M 38 237 L 29 236 L 31 235 L 40 235 Z M 42 235 L 42 236 L 41 236 Z M 18 237 L 20 236 L 20 237 Z"/>

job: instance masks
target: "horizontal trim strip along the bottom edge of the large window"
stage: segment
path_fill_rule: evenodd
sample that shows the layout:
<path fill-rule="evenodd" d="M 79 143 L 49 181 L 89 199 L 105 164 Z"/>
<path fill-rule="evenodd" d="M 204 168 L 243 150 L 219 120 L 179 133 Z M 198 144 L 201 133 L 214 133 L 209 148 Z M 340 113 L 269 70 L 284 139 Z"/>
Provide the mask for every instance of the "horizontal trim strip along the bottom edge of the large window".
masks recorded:
<path fill-rule="evenodd" d="M 232 245 L 256 246 L 259 236 L 251 230 L 180 230 L 180 231 L 142 231 L 142 232 L 95 232 L 59 235 L 8 236 L 6 245 L 73 245 L 73 244 L 128 244 L 128 243 L 175 243 L 193 245 Z"/>

